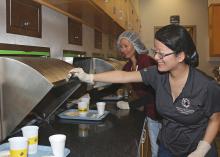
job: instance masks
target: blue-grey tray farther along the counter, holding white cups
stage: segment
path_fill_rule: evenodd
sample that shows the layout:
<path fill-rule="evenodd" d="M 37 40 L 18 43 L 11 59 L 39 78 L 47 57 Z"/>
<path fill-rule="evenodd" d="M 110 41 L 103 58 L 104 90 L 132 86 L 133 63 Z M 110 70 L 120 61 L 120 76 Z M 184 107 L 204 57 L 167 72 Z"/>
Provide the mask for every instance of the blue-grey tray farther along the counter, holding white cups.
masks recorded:
<path fill-rule="evenodd" d="M 103 115 L 98 115 L 97 110 L 89 110 L 89 112 L 81 116 L 78 113 L 77 109 L 70 109 L 66 110 L 60 114 L 58 114 L 58 117 L 62 119 L 72 119 L 72 120 L 88 120 L 88 121 L 99 121 L 105 118 L 109 114 L 109 111 L 105 111 Z"/>

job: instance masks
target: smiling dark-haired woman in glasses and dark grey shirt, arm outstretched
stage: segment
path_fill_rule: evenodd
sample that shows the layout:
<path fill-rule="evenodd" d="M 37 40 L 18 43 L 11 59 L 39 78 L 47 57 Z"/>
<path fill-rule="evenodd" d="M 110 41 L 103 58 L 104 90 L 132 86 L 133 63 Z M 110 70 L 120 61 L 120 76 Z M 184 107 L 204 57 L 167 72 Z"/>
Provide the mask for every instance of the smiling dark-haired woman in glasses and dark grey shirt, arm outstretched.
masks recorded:
<path fill-rule="evenodd" d="M 87 83 L 151 85 L 162 116 L 158 156 L 217 157 L 214 139 L 220 125 L 220 86 L 195 68 L 198 53 L 189 33 L 180 25 L 161 28 L 152 52 L 157 66 L 140 71 L 86 74 L 75 68 L 70 72 Z"/>

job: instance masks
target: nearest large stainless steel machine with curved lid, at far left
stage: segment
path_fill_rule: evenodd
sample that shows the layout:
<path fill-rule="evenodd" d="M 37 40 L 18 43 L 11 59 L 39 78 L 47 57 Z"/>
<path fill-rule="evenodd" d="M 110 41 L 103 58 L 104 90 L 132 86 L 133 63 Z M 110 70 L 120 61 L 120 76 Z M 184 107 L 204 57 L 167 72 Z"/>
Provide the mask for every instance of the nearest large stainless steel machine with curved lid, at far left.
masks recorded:
<path fill-rule="evenodd" d="M 0 141 L 31 111 L 48 119 L 80 86 L 72 65 L 51 58 L 0 57 Z"/>

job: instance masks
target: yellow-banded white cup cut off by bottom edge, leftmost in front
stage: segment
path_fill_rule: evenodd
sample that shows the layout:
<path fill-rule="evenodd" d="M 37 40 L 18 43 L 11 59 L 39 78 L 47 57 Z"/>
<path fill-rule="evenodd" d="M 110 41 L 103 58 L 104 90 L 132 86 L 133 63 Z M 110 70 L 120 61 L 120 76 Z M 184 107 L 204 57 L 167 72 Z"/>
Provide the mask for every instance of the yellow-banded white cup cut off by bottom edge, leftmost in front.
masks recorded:
<path fill-rule="evenodd" d="M 8 141 L 10 157 L 27 157 L 28 139 L 26 137 L 12 137 Z"/>

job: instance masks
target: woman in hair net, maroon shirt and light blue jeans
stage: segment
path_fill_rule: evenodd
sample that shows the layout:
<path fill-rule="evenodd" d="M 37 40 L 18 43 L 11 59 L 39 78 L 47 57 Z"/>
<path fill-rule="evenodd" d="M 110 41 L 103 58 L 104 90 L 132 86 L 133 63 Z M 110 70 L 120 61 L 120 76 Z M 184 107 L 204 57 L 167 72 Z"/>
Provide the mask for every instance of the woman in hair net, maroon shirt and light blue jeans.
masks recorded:
<path fill-rule="evenodd" d="M 127 64 L 123 68 L 124 71 L 138 71 L 156 65 L 156 61 L 147 55 L 148 50 L 136 32 L 125 31 L 121 33 L 117 40 L 117 48 L 121 55 L 127 59 Z M 118 102 L 117 106 L 121 109 L 144 107 L 152 157 L 157 157 L 157 136 L 161 124 L 158 121 L 159 116 L 156 112 L 154 89 L 150 85 L 146 86 L 143 83 L 131 83 L 131 87 L 135 100 L 129 103 Z"/>

